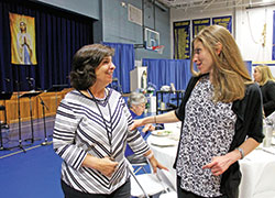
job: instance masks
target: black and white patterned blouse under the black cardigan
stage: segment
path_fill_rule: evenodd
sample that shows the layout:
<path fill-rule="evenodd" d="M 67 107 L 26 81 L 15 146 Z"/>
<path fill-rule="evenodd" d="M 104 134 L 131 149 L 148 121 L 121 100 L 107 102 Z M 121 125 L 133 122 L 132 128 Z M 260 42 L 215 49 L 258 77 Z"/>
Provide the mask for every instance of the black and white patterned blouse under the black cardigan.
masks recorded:
<path fill-rule="evenodd" d="M 209 76 L 204 76 L 195 86 L 186 103 L 177 175 L 180 187 L 202 197 L 218 197 L 221 176 L 213 176 L 209 168 L 213 156 L 228 153 L 234 135 L 237 116 L 232 102 L 213 102 L 213 88 Z"/>

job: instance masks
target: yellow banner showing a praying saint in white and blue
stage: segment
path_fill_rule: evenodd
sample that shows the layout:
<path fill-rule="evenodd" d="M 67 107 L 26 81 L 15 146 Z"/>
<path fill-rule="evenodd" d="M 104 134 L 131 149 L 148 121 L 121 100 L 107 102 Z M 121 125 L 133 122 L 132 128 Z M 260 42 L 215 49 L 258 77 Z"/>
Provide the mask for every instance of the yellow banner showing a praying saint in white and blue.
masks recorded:
<path fill-rule="evenodd" d="M 11 30 L 11 63 L 36 65 L 34 18 L 9 13 Z"/>

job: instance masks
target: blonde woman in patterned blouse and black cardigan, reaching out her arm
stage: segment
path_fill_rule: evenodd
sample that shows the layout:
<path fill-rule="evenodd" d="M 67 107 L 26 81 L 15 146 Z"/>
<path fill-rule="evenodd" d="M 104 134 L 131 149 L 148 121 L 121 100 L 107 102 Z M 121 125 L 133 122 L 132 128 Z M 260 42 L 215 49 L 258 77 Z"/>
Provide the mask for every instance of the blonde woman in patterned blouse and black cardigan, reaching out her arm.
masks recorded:
<path fill-rule="evenodd" d="M 238 161 L 264 138 L 261 90 L 224 28 L 205 28 L 193 41 L 193 50 L 194 77 L 180 107 L 136 120 L 134 127 L 182 121 L 174 164 L 178 197 L 238 198 Z"/>

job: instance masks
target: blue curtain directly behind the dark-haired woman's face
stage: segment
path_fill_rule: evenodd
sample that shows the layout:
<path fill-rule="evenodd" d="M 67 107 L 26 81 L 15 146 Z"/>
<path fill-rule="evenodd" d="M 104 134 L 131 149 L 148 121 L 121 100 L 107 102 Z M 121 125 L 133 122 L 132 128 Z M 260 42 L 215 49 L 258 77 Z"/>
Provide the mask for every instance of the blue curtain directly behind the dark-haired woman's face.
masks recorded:
<path fill-rule="evenodd" d="M 112 57 L 116 65 L 113 78 L 118 78 L 123 92 L 130 92 L 130 72 L 134 69 L 134 45 L 108 42 L 102 44 L 114 48 L 114 56 Z"/>

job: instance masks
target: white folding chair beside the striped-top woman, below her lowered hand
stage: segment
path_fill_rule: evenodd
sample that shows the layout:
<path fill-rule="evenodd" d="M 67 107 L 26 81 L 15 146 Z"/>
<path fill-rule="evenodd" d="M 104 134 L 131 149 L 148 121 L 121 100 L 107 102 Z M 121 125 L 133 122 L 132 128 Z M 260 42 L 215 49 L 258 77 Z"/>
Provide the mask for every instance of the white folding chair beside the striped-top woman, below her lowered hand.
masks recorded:
<path fill-rule="evenodd" d="M 131 196 L 148 198 L 162 193 L 169 193 L 168 186 L 162 182 L 158 173 L 135 175 L 133 166 L 128 160 L 127 162 L 131 174 Z"/>

